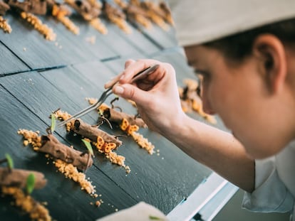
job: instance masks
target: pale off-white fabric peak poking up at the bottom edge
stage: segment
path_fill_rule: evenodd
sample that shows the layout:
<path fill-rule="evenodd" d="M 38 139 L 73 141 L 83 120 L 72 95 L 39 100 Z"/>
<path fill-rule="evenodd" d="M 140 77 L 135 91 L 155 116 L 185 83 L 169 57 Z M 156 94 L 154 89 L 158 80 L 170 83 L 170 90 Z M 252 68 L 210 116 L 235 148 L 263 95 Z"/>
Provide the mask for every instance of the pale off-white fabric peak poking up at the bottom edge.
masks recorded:
<path fill-rule="evenodd" d="M 96 221 L 118 221 L 118 220 L 128 220 L 128 221 L 151 221 L 160 220 L 167 221 L 167 217 L 158 210 L 156 207 L 149 205 L 148 203 L 140 202 L 133 207 L 125 210 L 120 210 L 111 215 L 107 215 Z"/>

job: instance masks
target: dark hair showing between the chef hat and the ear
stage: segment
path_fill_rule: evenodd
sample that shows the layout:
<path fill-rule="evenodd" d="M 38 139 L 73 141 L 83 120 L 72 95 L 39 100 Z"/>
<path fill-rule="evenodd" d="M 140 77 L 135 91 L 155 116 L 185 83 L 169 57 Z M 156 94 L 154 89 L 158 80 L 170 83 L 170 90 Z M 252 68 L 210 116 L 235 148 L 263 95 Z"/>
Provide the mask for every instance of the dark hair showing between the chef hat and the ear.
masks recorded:
<path fill-rule="evenodd" d="M 225 58 L 241 61 L 252 53 L 255 38 L 264 33 L 270 33 L 279 38 L 283 43 L 295 43 L 295 18 L 271 23 L 266 26 L 254 28 L 250 31 L 237 33 L 217 41 L 203 45 L 221 51 Z"/>

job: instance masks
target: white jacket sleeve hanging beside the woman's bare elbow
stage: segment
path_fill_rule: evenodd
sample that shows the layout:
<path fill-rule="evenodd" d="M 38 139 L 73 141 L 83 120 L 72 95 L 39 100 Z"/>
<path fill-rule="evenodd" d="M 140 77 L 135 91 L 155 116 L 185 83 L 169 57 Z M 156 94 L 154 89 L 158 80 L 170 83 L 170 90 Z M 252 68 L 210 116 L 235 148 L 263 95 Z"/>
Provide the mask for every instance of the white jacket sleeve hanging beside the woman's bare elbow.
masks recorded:
<path fill-rule="evenodd" d="M 254 212 L 289 212 L 294 199 L 276 172 L 275 158 L 255 161 L 255 190 L 245 193 L 242 207 Z"/>

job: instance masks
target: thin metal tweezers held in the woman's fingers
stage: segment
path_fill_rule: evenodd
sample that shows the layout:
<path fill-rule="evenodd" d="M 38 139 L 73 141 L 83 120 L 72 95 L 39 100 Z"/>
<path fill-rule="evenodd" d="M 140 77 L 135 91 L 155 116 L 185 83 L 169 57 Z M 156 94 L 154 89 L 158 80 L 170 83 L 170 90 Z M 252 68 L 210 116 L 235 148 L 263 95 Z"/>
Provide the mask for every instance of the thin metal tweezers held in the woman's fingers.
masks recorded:
<path fill-rule="evenodd" d="M 136 75 L 134 75 L 133 79 L 131 80 L 130 83 L 133 83 L 133 82 L 136 82 L 137 80 L 143 79 L 144 77 L 146 77 L 146 76 L 150 75 L 152 72 L 154 72 L 158 67 L 159 67 L 159 65 L 152 65 L 148 68 L 145 68 L 144 70 L 142 70 L 142 71 L 138 72 Z M 113 91 L 112 91 L 113 86 L 117 83 L 118 83 L 118 81 L 115 82 L 113 85 L 111 85 L 108 89 L 106 89 L 105 92 L 103 92 L 103 94 L 100 96 L 100 98 L 98 99 L 97 102 L 95 102 L 94 104 L 92 104 L 89 107 L 86 107 L 86 109 L 82 109 L 80 112 L 74 114 L 72 117 L 66 119 L 65 121 L 60 122 L 59 124 L 57 124 L 57 126 L 63 126 L 65 124 L 67 124 L 68 122 L 71 122 L 71 120 L 77 119 L 78 117 L 82 117 L 83 115 L 88 114 L 93 109 L 97 109 L 98 107 L 100 107 L 100 105 L 103 104 L 103 102 L 105 102 L 105 99 L 107 99 L 107 97 L 113 93 Z"/>

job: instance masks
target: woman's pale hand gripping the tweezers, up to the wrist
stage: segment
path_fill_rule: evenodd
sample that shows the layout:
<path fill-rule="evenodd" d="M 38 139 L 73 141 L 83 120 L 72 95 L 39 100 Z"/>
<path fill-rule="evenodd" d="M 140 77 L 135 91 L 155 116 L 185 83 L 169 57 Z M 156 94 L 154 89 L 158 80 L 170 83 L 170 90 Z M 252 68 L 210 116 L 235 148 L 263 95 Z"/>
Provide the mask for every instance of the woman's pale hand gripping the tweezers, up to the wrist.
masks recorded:
<path fill-rule="evenodd" d="M 128 83 L 138 72 L 155 64 L 160 65 L 155 72 L 132 85 Z M 173 129 L 173 125 L 181 122 L 184 112 L 172 65 L 157 60 L 128 60 L 125 70 L 106 83 L 105 87 L 110 87 L 116 81 L 119 83 L 113 87 L 113 92 L 120 97 L 133 100 L 140 117 L 150 129 L 162 134 L 161 131 Z"/>

